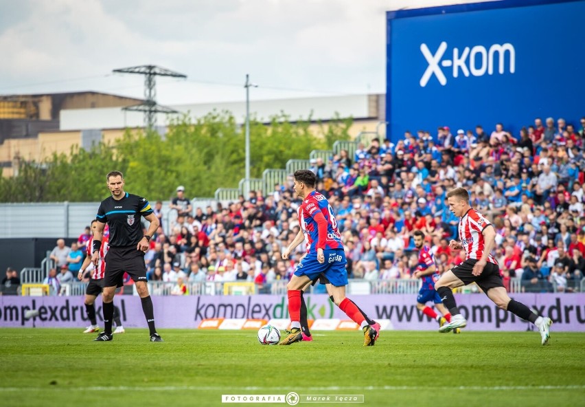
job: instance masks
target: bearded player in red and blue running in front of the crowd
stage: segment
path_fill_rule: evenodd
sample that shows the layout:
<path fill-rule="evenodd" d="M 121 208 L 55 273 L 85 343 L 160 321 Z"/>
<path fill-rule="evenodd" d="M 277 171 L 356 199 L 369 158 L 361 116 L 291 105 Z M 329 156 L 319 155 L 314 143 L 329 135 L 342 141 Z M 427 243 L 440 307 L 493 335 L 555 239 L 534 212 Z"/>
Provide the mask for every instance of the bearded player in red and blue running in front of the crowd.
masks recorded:
<path fill-rule="evenodd" d="M 413 232 L 413 238 L 415 247 L 419 250 L 418 252 L 418 265 L 416 271 L 413 273 L 413 278 L 421 278 L 422 285 L 416 298 L 416 307 L 422 311 L 426 316 L 437 320 L 439 327 L 445 325 L 446 322 L 450 322 L 451 314 L 443 305 L 443 301 L 437 292 L 435 291 L 435 281 L 439 280 L 440 274 L 437 272 L 437 266 L 435 265 L 435 256 L 431 253 L 431 249 L 424 244 L 424 233 L 420 230 Z M 442 316 L 438 316 L 437 313 L 426 305 L 426 303 L 433 301 L 435 308 L 439 310 Z M 459 328 L 453 329 L 453 333 L 461 332 Z"/>

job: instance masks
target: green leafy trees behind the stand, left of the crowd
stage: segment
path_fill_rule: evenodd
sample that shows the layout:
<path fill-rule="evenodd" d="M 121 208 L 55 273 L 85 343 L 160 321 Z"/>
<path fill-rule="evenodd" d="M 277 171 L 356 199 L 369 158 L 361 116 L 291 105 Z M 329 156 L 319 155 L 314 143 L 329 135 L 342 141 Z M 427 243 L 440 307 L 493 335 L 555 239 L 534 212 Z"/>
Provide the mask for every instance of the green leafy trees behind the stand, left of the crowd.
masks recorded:
<path fill-rule="evenodd" d="M 332 148 L 349 140 L 351 119 L 337 116 L 310 131 L 310 118 L 295 123 L 281 113 L 265 125 L 250 123 L 251 177 L 265 168 L 284 168 L 288 159 L 307 158 L 314 149 Z M 244 177 L 244 126 L 227 111 L 212 111 L 193 121 L 188 115 L 172 120 L 168 133 L 126 130 L 112 145 L 89 151 L 73 146 L 69 155 L 21 164 L 16 177 L 0 179 L 0 201 L 99 201 L 108 195 L 105 176 L 124 173 L 128 192 L 150 201 L 170 199 L 176 186 L 187 196 L 211 197 L 217 188 L 236 188 Z"/>

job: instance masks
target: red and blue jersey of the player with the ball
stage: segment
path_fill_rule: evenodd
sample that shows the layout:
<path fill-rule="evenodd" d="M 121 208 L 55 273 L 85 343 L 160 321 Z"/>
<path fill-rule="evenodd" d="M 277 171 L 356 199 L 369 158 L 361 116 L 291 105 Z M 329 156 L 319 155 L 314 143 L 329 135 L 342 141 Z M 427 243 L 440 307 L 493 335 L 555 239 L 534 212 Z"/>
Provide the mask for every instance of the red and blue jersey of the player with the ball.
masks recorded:
<path fill-rule="evenodd" d="M 343 249 L 333 208 L 321 193 L 312 191 L 301 203 L 297 212 L 299 223 L 308 242 L 307 253 L 316 252 L 319 248 Z"/>

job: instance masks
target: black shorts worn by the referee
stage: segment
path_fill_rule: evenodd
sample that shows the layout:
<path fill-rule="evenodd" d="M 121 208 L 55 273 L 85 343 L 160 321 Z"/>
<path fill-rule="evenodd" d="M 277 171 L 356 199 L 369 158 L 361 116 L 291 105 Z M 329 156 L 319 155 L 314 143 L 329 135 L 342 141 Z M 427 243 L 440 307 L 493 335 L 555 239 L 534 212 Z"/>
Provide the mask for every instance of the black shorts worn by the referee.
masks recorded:
<path fill-rule="evenodd" d="M 124 285 L 124 272 L 128 273 L 134 281 L 146 282 L 144 252 L 137 250 L 135 245 L 125 248 L 109 248 L 108 254 L 106 254 L 104 287 L 122 287 Z"/>

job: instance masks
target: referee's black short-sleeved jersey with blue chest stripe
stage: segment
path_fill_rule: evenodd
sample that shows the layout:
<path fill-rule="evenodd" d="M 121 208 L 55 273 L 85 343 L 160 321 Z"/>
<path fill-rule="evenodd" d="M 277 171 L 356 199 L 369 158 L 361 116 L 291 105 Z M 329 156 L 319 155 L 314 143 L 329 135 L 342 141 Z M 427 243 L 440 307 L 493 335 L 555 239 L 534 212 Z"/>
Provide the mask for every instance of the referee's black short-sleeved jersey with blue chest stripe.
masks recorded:
<path fill-rule="evenodd" d="M 150 203 L 143 197 L 126 195 L 119 201 L 108 197 L 100 204 L 95 219 L 108 223 L 110 227 L 109 244 L 112 248 L 137 245 L 144 236 L 140 219 L 152 213 Z"/>

